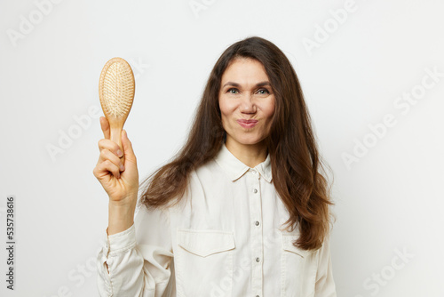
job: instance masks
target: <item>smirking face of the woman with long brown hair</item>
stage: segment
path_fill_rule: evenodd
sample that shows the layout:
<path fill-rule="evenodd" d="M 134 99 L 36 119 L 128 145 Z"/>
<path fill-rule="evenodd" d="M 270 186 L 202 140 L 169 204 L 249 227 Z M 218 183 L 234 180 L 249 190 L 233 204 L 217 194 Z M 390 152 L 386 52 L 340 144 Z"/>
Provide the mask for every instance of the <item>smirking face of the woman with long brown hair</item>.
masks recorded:
<path fill-rule="evenodd" d="M 262 63 L 233 60 L 222 76 L 218 102 L 227 146 L 257 144 L 266 138 L 274 115 L 274 93 Z"/>

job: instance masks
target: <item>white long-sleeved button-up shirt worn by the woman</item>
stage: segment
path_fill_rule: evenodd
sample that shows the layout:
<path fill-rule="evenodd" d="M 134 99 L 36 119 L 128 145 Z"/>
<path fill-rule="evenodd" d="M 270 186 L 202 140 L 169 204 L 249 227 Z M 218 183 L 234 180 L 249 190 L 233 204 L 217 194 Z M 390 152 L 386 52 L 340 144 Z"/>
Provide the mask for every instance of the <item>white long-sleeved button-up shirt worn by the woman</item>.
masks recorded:
<path fill-rule="evenodd" d="M 250 168 L 223 144 L 188 187 L 178 205 L 141 207 L 130 229 L 104 236 L 100 296 L 336 296 L 329 237 L 305 251 L 297 229 L 280 230 L 289 213 L 270 156 Z"/>

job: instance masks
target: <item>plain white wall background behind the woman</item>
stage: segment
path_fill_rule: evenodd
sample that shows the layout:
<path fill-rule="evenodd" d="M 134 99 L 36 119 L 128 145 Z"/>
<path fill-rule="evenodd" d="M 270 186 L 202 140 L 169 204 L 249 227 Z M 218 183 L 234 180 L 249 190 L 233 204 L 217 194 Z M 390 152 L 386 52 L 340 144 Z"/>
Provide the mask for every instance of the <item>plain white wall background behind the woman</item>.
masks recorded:
<path fill-rule="evenodd" d="M 0 0 L 0 295 L 98 295 L 107 195 L 92 169 L 107 60 L 123 57 L 137 76 L 125 129 L 143 179 L 183 144 L 218 56 L 262 36 L 293 63 L 335 174 L 338 296 L 444 296 L 442 1 L 48 1 Z M 400 97 L 411 92 L 414 104 Z M 347 166 L 357 142 L 369 148 Z"/>

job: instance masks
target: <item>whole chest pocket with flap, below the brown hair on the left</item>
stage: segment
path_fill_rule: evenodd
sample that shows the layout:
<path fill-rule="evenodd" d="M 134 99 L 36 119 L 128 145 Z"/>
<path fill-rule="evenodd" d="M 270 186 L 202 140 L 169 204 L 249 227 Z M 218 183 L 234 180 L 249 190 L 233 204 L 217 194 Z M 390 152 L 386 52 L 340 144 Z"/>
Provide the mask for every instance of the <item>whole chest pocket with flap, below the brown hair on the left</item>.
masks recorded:
<path fill-rule="evenodd" d="M 232 296 L 232 231 L 178 229 L 174 254 L 178 296 Z"/>

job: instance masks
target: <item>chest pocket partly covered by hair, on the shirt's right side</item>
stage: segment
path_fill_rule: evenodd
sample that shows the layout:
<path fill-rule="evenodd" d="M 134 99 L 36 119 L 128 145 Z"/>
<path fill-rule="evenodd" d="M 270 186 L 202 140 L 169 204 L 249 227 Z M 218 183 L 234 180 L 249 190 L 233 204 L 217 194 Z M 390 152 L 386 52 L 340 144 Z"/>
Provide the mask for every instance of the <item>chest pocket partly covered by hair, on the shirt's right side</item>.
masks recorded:
<path fill-rule="evenodd" d="M 318 252 L 303 250 L 293 245 L 298 235 L 282 232 L 282 291 L 281 296 L 314 296 Z"/>

